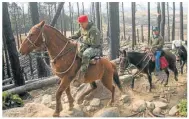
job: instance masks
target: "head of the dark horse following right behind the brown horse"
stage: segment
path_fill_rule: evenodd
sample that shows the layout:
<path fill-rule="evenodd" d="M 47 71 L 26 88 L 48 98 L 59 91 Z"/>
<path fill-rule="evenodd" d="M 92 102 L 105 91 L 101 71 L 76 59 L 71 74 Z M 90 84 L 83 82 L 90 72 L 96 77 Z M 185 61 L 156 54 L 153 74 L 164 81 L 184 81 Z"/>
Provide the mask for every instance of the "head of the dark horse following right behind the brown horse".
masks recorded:
<path fill-rule="evenodd" d="M 119 60 L 120 60 L 120 64 L 119 64 L 119 67 L 120 67 L 120 72 L 124 72 L 126 70 L 126 68 L 128 68 L 129 66 L 129 59 L 128 59 L 128 56 L 127 56 L 127 53 L 126 53 L 126 50 L 119 50 L 120 52 L 120 56 L 119 56 Z"/>

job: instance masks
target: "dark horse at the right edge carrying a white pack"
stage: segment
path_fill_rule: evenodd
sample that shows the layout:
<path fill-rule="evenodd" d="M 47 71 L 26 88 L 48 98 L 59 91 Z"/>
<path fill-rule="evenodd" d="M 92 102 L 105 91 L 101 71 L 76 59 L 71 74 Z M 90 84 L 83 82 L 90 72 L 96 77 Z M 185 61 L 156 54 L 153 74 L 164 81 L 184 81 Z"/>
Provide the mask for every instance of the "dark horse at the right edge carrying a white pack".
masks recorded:
<path fill-rule="evenodd" d="M 183 74 L 183 67 L 185 63 L 187 62 L 187 51 L 183 45 L 176 47 L 177 50 L 177 57 L 180 60 L 180 66 L 181 66 L 181 74 Z"/>

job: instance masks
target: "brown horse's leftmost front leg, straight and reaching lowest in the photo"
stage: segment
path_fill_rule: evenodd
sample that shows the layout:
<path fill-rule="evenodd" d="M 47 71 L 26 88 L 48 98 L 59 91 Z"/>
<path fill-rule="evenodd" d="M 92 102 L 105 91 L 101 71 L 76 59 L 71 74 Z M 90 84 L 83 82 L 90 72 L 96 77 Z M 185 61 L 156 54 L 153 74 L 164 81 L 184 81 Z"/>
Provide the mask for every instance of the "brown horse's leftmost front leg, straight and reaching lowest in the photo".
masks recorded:
<path fill-rule="evenodd" d="M 66 90 L 66 88 L 70 85 L 70 80 L 67 78 L 61 79 L 60 86 L 56 91 L 56 109 L 53 114 L 53 117 L 59 117 L 60 112 L 62 111 L 62 103 L 61 103 L 61 95 L 62 92 Z"/>

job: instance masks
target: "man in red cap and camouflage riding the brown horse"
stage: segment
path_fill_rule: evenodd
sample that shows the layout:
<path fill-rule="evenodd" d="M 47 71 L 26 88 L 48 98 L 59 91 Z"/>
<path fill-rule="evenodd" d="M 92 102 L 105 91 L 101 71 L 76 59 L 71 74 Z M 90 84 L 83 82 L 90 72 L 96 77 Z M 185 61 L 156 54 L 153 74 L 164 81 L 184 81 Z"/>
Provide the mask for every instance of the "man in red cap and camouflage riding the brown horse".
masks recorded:
<path fill-rule="evenodd" d="M 81 44 L 78 55 L 82 58 L 82 64 L 79 78 L 83 79 L 89 66 L 90 59 L 97 55 L 100 56 L 101 35 L 99 29 L 92 22 L 88 21 L 87 15 L 81 15 L 78 17 L 78 22 L 81 28 L 76 34 L 69 38 L 80 40 Z"/>

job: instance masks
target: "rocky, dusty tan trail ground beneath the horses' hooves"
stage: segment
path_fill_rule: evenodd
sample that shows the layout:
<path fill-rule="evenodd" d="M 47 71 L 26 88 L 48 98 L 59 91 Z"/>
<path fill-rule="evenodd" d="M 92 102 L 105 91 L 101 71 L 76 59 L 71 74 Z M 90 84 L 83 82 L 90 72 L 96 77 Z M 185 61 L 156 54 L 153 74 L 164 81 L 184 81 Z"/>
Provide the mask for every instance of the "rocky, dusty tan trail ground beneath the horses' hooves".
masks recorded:
<path fill-rule="evenodd" d="M 139 78 L 140 77 L 140 78 Z M 130 75 L 120 76 L 124 92 L 116 88 L 115 103 L 107 106 L 110 92 L 97 82 L 98 88 L 88 95 L 84 102 L 78 105 L 75 101 L 74 109 L 68 110 L 68 99 L 66 94 L 62 95 L 63 111 L 62 117 L 153 117 L 153 116 L 179 116 L 177 104 L 187 96 L 186 72 L 179 74 L 176 82 L 171 73 L 168 86 L 164 87 L 160 82 L 156 83 L 153 76 L 153 90 L 148 92 L 149 84 L 147 77 L 140 75 L 135 81 L 135 88 L 130 89 Z M 55 109 L 55 91 L 58 85 L 44 87 L 29 92 L 31 95 L 24 100 L 24 107 L 3 110 L 4 117 L 51 117 Z M 80 87 L 71 86 L 71 93 L 75 100 L 82 92 L 90 88 L 89 84 Z"/>

